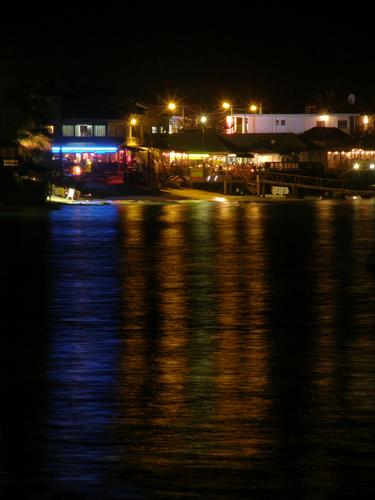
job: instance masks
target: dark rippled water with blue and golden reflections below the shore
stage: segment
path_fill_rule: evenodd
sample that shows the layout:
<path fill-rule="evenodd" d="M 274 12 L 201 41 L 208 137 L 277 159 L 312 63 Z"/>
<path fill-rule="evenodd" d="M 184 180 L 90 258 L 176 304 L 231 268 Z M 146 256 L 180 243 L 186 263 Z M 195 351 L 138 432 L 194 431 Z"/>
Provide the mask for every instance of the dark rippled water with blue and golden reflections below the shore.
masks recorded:
<path fill-rule="evenodd" d="M 4 497 L 374 492 L 373 200 L 3 208 L 0 240 Z"/>

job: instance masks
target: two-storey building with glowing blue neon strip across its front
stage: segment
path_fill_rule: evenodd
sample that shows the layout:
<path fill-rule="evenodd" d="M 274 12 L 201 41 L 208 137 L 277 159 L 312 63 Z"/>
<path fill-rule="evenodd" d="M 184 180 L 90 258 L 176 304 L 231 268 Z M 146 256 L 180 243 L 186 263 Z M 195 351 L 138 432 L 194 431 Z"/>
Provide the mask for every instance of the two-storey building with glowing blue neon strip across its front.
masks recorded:
<path fill-rule="evenodd" d="M 48 107 L 53 158 L 63 167 L 80 173 L 124 161 L 120 146 L 128 110 L 111 100 L 108 89 L 79 88 L 53 79 L 36 93 Z"/>

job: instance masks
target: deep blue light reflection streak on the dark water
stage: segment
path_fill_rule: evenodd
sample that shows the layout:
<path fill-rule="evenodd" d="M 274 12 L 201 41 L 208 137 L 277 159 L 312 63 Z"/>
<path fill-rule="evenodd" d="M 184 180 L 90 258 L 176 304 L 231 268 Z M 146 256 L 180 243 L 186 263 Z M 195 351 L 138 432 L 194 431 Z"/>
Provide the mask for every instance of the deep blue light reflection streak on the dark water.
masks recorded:
<path fill-rule="evenodd" d="M 62 491 L 103 483 L 118 361 L 117 210 L 70 208 L 52 214 L 50 256 L 45 467 Z"/>

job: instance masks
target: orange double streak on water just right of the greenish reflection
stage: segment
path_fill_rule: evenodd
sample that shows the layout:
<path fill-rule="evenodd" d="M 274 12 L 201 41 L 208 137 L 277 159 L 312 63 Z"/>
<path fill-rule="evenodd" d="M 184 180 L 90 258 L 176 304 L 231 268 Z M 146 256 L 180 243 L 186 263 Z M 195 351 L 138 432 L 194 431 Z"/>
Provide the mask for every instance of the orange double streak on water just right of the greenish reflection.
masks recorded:
<path fill-rule="evenodd" d="M 271 439 L 270 430 L 267 429 L 266 437 L 266 429 L 256 424 L 266 418 L 270 406 L 265 396 L 269 385 L 269 346 L 264 331 L 264 293 L 261 296 L 265 282 L 264 242 L 259 211 L 250 209 L 249 215 L 249 209 L 241 207 L 234 215 L 233 207 L 219 210 L 221 215 L 228 214 L 228 210 L 232 213 L 228 218 L 220 218 L 218 231 L 220 306 L 215 382 L 219 397 L 215 415 L 223 439 L 212 454 L 234 459 L 238 446 L 242 457 L 250 457 L 259 452 L 266 439 Z M 241 257 L 233 259 L 239 248 Z M 236 419 L 231 419 L 231 415 L 236 415 Z"/>

